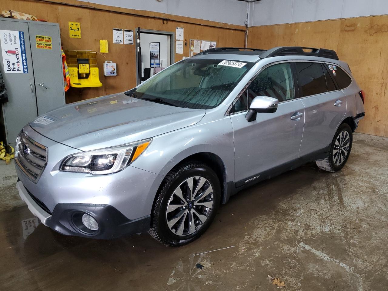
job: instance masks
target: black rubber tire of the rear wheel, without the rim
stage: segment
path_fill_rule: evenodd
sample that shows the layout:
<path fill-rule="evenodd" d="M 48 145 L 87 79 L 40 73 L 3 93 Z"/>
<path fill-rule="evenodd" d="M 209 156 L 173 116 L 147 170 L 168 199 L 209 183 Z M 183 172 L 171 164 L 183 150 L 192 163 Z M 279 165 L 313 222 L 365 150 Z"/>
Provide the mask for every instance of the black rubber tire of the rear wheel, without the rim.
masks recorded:
<path fill-rule="evenodd" d="M 342 134 L 344 131 L 346 131 L 349 134 L 349 143 L 345 144 L 345 147 L 346 149 L 348 149 L 348 151 L 346 153 L 346 157 L 342 159 L 341 163 L 338 165 L 339 161 L 338 160 L 334 161 L 333 152 L 334 150 L 338 150 L 337 148 L 338 146 L 336 146 L 336 140 L 338 139 L 339 135 Z M 330 152 L 327 155 L 327 157 L 322 160 L 315 161 L 318 168 L 331 173 L 341 170 L 343 166 L 345 166 L 346 162 L 348 161 L 350 152 L 352 151 L 352 144 L 353 144 L 352 128 L 350 128 L 350 126 L 347 123 L 342 123 L 338 127 L 336 134 L 333 137 L 333 141 L 331 142 Z M 340 149 L 340 152 L 341 151 L 342 151 L 342 148 Z M 344 151 L 342 151 L 342 153 L 344 153 Z"/>

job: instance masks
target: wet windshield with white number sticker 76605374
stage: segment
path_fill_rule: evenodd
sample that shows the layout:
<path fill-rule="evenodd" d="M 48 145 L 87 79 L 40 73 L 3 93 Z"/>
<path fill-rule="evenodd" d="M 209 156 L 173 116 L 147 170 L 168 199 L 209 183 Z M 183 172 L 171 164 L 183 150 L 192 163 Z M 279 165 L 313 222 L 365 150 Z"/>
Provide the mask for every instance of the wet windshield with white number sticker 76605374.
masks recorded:
<path fill-rule="evenodd" d="M 225 100 L 252 66 L 252 62 L 186 59 L 145 81 L 131 94 L 172 106 L 210 109 Z"/>

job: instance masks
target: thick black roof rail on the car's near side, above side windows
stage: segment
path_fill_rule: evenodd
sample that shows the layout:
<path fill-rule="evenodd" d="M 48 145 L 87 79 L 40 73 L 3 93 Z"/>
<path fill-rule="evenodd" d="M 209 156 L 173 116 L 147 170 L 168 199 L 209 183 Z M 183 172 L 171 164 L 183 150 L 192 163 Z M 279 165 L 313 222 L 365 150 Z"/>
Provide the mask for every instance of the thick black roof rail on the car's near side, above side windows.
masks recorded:
<path fill-rule="evenodd" d="M 303 49 L 311 50 L 311 52 L 305 52 Z M 259 55 L 260 59 L 266 57 L 275 57 L 281 55 L 311 55 L 314 57 L 326 57 L 328 59 L 338 59 L 338 55 L 334 50 L 328 49 L 315 49 L 312 47 L 274 47 Z"/>

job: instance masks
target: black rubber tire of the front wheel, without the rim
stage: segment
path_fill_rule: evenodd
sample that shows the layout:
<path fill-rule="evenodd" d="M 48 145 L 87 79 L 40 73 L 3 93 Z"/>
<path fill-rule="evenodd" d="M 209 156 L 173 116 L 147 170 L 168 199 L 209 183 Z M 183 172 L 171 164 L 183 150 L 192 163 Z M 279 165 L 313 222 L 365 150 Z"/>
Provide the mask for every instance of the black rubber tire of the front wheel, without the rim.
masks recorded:
<path fill-rule="evenodd" d="M 208 180 L 211 187 L 213 187 L 213 206 L 211 207 L 209 213 L 206 213 L 207 218 L 205 222 L 203 224 L 201 223 L 200 227 L 196 229 L 196 231 L 184 237 L 178 236 L 177 234 L 173 233 L 167 224 L 166 216 L 168 215 L 168 203 L 170 197 L 173 195 L 173 191 L 175 191 L 175 189 L 177 189 L 177 187 L 179 187 L 182 182 L 196 176 L 204 177 L 206 180 Z M 220 199 L 220 182 L 216 173 L 209 166 L 200 161 L 188 161 L 182 163 L 173 168 L 173 170 L 171 170 L 170 173 L 166 175 L 162 186 L 156 195 L 156 200 L 154 202 L 151 213 L 151 229 L 149 230 L 149 234 L 151 234 L 154 239 L 161 242 L 162 244 L 165 244 L 166 246 L 183 246 L 188 244 L 200 237 L 210 226 L 220 205 Z M 189 210 L 188 206 L 187 210 Z"/>

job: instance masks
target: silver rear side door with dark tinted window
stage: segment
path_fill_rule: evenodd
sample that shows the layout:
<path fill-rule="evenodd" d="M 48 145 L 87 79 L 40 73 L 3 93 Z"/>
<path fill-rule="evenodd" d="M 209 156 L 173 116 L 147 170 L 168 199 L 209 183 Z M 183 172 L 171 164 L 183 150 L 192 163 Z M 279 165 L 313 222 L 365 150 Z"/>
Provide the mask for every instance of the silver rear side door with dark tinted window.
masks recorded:
<path fill-rule="evenodd" d="M 327 64 L 318 62 L 295 62 L 295 67 L 300 100 L 305 106 L 305 130 L 300 147 L 300 156 L 305 156 L 331 143 L 346 113 L 346 95 L 337 90 L 334 82 L 337 67 L 334 72 L 328 70 Z"/>

